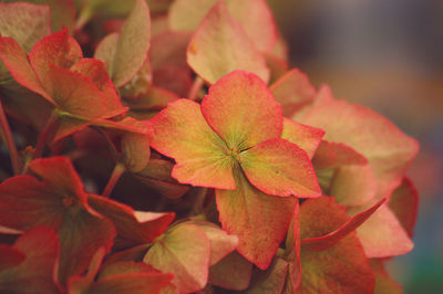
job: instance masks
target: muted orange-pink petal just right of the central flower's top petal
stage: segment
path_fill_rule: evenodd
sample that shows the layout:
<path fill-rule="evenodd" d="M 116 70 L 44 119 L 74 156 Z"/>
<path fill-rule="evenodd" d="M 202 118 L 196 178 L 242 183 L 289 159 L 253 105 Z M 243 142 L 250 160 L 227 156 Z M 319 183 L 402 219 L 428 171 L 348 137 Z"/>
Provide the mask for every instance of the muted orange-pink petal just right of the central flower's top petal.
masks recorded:
<path fill-rule="evenodd" d="M 310 104 L 316 95 L 316 88 L 308 76 L 292 69 L 277 80 L 270 87 L 278 103 L 281 103 L 284 116 L 291 117 L 298 109 Z"/>

